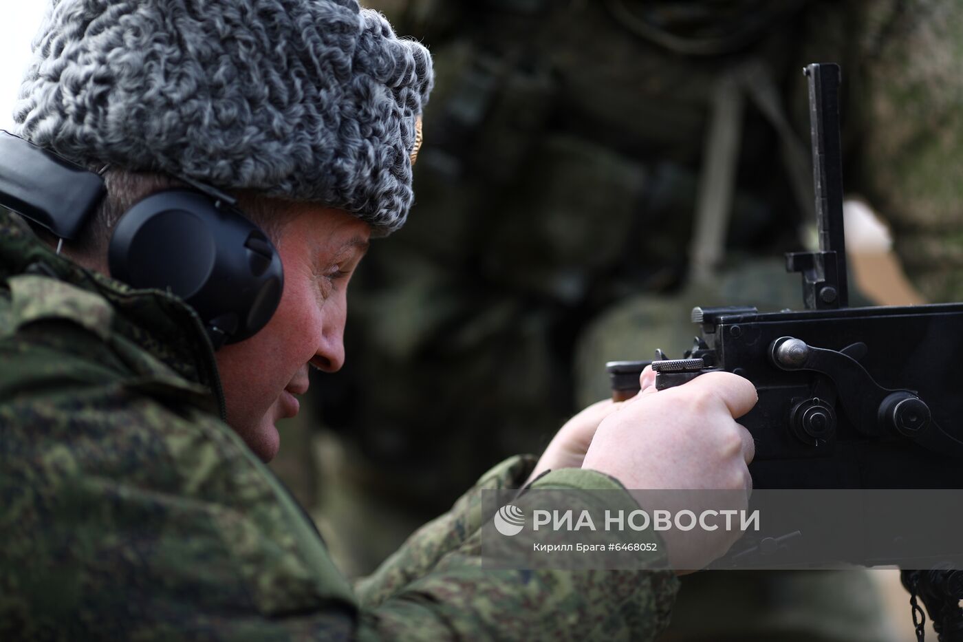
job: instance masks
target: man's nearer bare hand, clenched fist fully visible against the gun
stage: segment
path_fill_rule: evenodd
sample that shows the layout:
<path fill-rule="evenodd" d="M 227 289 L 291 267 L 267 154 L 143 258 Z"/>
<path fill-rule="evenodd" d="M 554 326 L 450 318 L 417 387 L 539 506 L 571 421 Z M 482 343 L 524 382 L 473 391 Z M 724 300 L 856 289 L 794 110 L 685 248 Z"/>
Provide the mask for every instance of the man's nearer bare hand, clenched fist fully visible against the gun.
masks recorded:
<path fill-rule="evenodd" d="M 736 419 L 756 404 L 752 384 L 729 372 L 710 372 L 683 386 L 654 390 L 644 390 L 602 420 L 582 468 L 609 474 L 630 491 L 742 491 L 747 503 L 752 478 L 746 465 L 755 446 Z M 695 540 L 665 531 L 664 540 L 670 561 L 695 568 L 716 559 L 740 535 L 718 529 Z"/>

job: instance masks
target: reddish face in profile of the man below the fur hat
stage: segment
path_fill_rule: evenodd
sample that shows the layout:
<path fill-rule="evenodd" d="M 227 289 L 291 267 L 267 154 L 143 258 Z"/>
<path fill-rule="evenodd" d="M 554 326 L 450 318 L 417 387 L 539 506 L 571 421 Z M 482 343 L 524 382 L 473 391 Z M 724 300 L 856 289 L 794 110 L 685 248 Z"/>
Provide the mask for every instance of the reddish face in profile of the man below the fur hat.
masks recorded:
<path fill-rule="evenodd" d="M 280 445 L 274 423 L 298 414 L 308 364 L 325 372 L 345 361 L 346 291 L 368 248 L 368 224 L 334 209 L 291 203 L 278 239 L 284 293 L 258 334 L 217 353 L 227 423 L 262 460 Z"/>

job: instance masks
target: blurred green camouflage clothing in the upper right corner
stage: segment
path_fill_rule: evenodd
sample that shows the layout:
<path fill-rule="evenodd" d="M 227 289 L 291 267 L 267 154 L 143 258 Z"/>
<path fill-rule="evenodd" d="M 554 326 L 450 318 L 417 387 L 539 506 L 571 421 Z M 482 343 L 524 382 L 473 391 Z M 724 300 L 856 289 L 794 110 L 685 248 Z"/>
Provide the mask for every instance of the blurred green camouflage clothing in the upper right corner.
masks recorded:
<path fill-rule="evenodd" d="M 926 300 L 963 301 L 963 5 L 867 0 L 858 24 L 859 191 Z"/>

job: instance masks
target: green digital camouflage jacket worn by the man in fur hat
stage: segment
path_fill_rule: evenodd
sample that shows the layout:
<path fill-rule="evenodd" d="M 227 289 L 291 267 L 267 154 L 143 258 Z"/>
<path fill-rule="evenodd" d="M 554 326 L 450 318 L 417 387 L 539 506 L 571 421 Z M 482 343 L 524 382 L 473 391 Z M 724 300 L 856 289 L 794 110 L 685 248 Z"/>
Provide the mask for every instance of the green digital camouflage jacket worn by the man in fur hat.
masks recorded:
<path fill-rule="evenodd" d="M 481 568 L 481 489 L 517 488 L 524 457 L 352 587 L 223 403 L 193 309 L 77 266 L 0 210 L 0 639 L 645 640 L 664 628 L 669 572 Z M 574 469 L 535 485 L 620 488 Z M 624 498 L 616 508 L 635 508 Z"/>

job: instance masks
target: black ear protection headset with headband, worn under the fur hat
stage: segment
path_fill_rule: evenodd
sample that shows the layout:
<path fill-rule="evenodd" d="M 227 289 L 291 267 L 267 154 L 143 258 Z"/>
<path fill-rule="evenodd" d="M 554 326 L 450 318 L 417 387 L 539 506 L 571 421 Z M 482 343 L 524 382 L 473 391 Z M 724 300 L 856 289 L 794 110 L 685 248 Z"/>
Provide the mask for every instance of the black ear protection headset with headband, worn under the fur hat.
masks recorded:
<path fill-rule="evenodd" d="M 257 333 L 281 300 L 284 273 L 267 234 L 219 190 L 158 192 L 117 221 L 111 276 L 168 290 L 195 309 L 215 349 Z M 0 129 L 0 205 L 71 240 L 106 195 L 99 174 Z"/>

